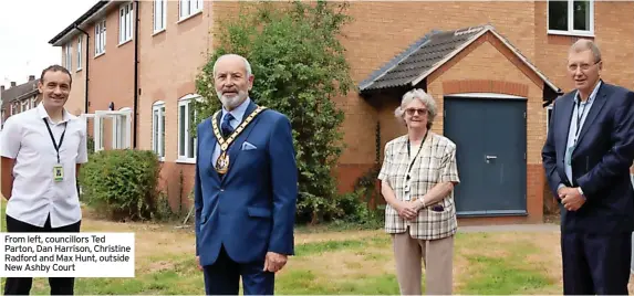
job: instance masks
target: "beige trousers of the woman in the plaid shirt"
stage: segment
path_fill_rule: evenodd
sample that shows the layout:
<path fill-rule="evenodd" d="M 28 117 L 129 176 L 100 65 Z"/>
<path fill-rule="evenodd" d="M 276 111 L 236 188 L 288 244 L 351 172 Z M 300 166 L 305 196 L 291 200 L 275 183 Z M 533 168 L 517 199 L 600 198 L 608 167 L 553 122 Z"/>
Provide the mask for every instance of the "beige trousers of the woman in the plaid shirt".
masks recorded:
<path fill-rule="evenodd" d="M 422 262 L 425 264 L 427 294 L 448 295 L 453 286 L 454 236 L 416 240 L 404 233 L 392 234 L 396 278 L 402 295 L 420 295 Z"/>

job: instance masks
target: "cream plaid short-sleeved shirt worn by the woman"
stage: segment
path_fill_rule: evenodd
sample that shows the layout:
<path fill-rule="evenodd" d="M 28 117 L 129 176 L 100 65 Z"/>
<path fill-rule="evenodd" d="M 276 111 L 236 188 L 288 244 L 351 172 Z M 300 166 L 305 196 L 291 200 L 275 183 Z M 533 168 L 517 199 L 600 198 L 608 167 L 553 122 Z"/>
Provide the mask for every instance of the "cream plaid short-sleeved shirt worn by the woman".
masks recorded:
<path fill-rule="evenodd" d="M 456 165 L 456 145 L 451 140 L 429 131 L 420 149 L 409 172 L 409 191 L 413 198 L 423 198 L 438 183 L 458 183 L 460 181 Z M 409 165 L 406 135 L 385 145 L 385 158 L 378 179 L 389 184 L 398 200 L 404 200 L 405 197 Z M 387 204 L 385 231 L 387 233 L 403 233 L 409 226 L 409 235 L 418 240 L 438 240 L 454 235 L 458 229 L 454 191 L 436 204 L 443 204 L 445 210 L 436 212 L 430 209 L 434 204 L 427 204 L 425 209 L 418 212 L 418 218 L 412 222 L 398 216 L 398 212 Z"/>

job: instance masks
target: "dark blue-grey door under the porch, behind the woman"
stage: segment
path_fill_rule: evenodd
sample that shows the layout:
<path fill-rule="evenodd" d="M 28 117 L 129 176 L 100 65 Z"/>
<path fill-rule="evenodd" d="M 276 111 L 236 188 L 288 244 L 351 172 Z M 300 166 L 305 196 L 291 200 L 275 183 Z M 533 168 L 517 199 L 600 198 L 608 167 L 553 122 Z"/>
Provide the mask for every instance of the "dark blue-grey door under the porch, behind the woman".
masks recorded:
<path fill-rule="evenodd" d="M 458 215 L 527 213 L 526 99 L 445 97 L 445 136 L 456 146 Z"/>

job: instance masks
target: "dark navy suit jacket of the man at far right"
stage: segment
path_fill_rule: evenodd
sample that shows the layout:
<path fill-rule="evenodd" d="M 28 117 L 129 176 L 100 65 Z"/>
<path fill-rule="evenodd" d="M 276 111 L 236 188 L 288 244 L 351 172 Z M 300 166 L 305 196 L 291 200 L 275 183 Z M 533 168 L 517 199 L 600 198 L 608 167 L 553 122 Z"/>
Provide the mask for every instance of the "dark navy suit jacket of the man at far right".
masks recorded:
<path fill-rule="evenodd" d="M 572 180 L 568 180 L 564 154 L 574 95 L 571 92 L 555 99 L 542 150 L 545 176 L 555 198 L 560 183 L 581 187 L 586 198 L 578 211 L 560 207 L 562 232 L 632 232 L 634 190 L 630 166 L 634 159 L 634 93 L 602 83 L 580 131 L 571 158 Z"/>

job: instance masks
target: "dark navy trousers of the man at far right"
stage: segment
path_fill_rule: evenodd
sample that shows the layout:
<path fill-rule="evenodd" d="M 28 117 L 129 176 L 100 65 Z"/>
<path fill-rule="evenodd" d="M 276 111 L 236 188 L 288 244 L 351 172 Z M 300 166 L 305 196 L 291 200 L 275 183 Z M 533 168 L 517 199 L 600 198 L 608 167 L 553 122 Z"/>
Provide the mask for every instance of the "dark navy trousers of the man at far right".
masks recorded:
<path fill-rule="evenodd" d="M 563 294 L 627 295 L 632 233 L 562 233 Z"/>

